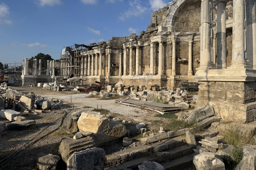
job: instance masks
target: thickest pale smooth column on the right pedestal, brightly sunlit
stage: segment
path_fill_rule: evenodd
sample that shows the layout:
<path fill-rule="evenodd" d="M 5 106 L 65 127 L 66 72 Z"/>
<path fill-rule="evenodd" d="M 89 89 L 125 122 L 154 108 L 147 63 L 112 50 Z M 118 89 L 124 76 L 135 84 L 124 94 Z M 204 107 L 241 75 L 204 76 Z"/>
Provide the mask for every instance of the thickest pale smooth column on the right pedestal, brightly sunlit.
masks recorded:
<path fill-rule="evenodd" d="M 244 0 L 233 1 L 233 43 L 231 67 L 244 67 Z"/>

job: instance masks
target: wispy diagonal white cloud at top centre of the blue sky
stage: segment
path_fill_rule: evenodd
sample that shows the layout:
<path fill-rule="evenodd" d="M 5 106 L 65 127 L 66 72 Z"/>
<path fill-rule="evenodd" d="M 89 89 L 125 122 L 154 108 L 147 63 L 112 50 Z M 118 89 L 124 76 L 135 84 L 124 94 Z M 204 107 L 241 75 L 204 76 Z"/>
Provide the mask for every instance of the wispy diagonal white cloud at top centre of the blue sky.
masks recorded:
<path fill-rule="evenodd" d="M 129 2 L 129 10 L 119 16 L 119 19 L 124 21 L 132 16 L 140 16 L 147 11 L 147 8 L 141 5 L 140 0 L 132 0 Z"/>

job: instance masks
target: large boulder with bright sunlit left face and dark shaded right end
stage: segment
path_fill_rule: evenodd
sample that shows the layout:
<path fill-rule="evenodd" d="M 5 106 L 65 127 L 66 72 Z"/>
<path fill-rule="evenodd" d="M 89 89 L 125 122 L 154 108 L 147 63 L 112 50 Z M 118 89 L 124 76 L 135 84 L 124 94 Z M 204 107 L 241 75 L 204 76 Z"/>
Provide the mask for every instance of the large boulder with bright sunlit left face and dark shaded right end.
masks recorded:
<path fill-rule="evenodd" d="M 117 121 L 108 121 L 105 115 L 82 113 L 77 121 L 79 131 L 97 133 L 97 142 L 108 142 L 123 137 L 125 126 Z"/>

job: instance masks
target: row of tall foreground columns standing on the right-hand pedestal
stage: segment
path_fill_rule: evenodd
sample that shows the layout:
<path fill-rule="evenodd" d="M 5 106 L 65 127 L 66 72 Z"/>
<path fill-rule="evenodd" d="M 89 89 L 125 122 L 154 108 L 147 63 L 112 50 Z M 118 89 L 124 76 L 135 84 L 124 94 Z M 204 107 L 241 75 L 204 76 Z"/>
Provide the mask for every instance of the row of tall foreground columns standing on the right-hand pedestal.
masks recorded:
<path fill-rule="evenodd" d="M 226 44 L 226 4 L 227 0 L 217 1 L 217 68 L 227 68 Z M 245 4 L 246 3 L 246 4 Z M 245 12 L 246 6 L 246 12 Z M 207 70 L 211 67 L 210 55 L 210 3 L 201 3 L 201 63 L 199 69 Z M 246 14 L 246 16 L 245 16 Z M 245 28 L 246 20 L 246 28 Z M 245 33 L 246 30 L 246 33 Z M 245 39 L 246 35 L 246 39 Z M 245 41 L 246 40 L 246 41 Z M 213 39 L 213 54 L 216 41 Z M 245 44 L 246 42 L 246 44 Z M 246 53 L 245 53 L 246 52 Z M 246 56 L 247 55 L 247 56 Z M 214 55 L 213 55 L 214 56 Z M 233 45 L 230 68 L 244 68 L 249 63 L 256 69 L 256 1 L 233 1 Z M 215 58 L 213 58 L 215 61 Z"/>

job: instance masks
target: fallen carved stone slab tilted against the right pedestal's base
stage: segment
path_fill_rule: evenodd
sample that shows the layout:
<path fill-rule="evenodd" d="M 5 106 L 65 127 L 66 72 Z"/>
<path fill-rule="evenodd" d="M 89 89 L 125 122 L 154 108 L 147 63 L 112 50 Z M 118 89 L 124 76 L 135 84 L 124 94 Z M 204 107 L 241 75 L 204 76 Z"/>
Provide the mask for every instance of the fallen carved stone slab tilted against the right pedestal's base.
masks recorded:
<path fill-rule="evenodd" d="M 199 122 L 214 114 L 214 108 L 212 106 L 204 106 L 199 109 L 194 109 L 187 118 L 187 121 L 190 123 Z"/>

